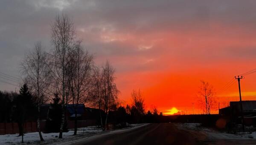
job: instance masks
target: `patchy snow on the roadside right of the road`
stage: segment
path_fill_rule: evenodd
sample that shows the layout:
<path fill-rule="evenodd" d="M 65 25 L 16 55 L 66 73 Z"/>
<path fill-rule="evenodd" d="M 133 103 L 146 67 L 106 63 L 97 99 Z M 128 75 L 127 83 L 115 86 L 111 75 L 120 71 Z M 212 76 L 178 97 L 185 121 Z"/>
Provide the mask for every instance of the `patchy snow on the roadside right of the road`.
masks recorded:
<path fill-rule="evenodd" d="M 177 123 L 176 126 L 181 130 L 191 130 L 203 133 L 206 135 L 208 140 L 216 139 L 256 139 L 256 132 L 253 133 L 224 133 L 220 131 L 215 131 L 213 129 L 201 127 L 200 123 Z"/>

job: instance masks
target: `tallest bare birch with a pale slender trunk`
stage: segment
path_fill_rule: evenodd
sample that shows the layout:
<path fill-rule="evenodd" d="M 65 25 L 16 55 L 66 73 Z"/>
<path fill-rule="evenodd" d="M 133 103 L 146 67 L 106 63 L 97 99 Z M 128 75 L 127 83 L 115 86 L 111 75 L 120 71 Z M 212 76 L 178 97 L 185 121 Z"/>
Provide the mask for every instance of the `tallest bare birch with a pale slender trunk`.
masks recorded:
<path fill-rule="evenodd" d="M 59 138 L 62 138 L 62 132 L 65 122 L 65 104 L 68 102 L 68 74 L 67 67 L 69 64 L 68 55 L 70 49 L 74 46 L 75 29 L 73 22 L 66 14 L 57 15 L 55 22 L 52 24 L 52 45 L 54 46 L 52 54 L 52 74 L 55 80 L 55 86 L 61 95 L 62 118 Z"/>

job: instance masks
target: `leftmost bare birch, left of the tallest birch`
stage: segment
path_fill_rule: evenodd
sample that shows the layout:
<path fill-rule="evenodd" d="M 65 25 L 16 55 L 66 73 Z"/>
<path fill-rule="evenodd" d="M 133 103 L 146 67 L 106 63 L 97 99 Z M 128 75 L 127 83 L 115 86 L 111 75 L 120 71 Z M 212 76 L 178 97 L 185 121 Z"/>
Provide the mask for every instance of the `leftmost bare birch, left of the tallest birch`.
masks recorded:
<path fill-rule="evenodd" d="M 27 85 L 31 88 L 31 93 L 36 97 L 38 107 L 37 129 L 40 140 L 44 141 L 40 128 L 40 107 L 48 100 L 47 91 L 51 75 L 47 65 L 47 53 L 43 52 L 41 47 L 40 42 L 35 44 L 34 50 L 26 54 L 21 63 L 21 69 Z"/>

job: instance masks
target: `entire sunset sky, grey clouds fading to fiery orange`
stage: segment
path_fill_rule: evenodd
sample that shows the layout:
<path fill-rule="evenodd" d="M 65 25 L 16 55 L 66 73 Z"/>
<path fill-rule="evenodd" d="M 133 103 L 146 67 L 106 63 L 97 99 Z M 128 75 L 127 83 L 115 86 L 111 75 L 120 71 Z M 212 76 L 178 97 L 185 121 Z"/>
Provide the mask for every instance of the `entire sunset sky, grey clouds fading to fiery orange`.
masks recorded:
<path fill-rule="evenodd" d="M 255 0 L 1 0 L 0 73 L 19 77 L 38 41 L 52 49 L 51 23 L 65 13 L 95 63 L 115 68 L 123 102 L 140 89 L 147 108 L 200 113 L 204 80 L 224 107 L 239 100 L 234 76 L 256 68 L 255 7 Z M 0 76 L 0 90 L 18 89 Z M 243 100 L 256 99 L 255 82 L 256 73 L 241 80 Z"/>

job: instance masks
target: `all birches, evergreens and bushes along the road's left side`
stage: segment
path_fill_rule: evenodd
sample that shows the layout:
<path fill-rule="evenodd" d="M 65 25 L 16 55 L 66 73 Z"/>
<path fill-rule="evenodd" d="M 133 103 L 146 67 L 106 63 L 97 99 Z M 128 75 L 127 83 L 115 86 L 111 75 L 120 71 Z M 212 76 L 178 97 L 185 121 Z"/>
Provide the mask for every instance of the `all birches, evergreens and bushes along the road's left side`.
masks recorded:
<path fill-rule="evenodd" d="M 120 122 L 116 121 L 119 118 L 123 122 L 141 123 L 145 122 L 146 115 L 152 115 L 150 111 L 145 113 L 140 90 L 132 92 L 131 105 L 120 105 L 115 69 L 109 61 L 102 66 L 95 65 L 94 56 L 83 48 L 81 39 L 77 39 L 73 21 L 66 14 L 57 15 L 51 24 L 51 44 L 49 52 L 43 50 L 41 42 L 37 42 L 34 49 L 26 53 L 20 64 L 24 82 L 20 93 L 0 92 L 0 102 L 3 102 L 0 106 L 1 122 L 17 122 L 20 135 L 23 136 L 24 123 L 29 119 L 36 119 L 40 140 L 44 141 L 40 112 L 41 106 L 49 102 L 59 104 L 61 110 L 58 138 L 62 138 L 65 129 L 67 104 L 73 104 L 75 110 L 74 135 L 77 134 L 79 103 L 103 110 L 99 114 L 102 130 L 107 129 L 111 113 L 112 122 L 113 116 L 116 116 L 114 122 Z M 113 111 L 119 112 L 119 115 L 113 115 Z"/>

